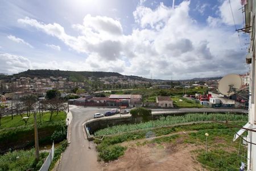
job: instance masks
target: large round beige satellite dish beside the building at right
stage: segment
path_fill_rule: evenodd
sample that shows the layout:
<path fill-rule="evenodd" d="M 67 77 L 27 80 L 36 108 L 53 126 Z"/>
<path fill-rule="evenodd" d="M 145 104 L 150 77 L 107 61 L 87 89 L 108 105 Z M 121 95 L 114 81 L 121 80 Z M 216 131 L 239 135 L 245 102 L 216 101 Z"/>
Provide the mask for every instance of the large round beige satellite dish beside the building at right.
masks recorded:
<path fill-rule="evenodd" d="M 241 89 L 242 78 L 237 74 L 228 74 L 218 82 L 218 91 L 223 95 L 233 95 L 236 90 Z"/>

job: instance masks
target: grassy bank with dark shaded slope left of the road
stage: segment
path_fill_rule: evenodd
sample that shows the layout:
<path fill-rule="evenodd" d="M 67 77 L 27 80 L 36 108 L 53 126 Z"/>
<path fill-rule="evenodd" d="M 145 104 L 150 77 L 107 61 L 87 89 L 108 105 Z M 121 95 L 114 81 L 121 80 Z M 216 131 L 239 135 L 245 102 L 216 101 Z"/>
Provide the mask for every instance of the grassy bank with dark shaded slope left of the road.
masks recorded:
<path fill-rule="evenodd" d="M 38 114 L 39 115 L 39 114 Z M 59 115 L 53 114 L 52 121 L 49 122 L 49 113 L 42 116 L 42 120 L 38 119 L 38 137 L 39 145 L 51 144 L 52 140 L 59 142 L 67 136 L 67 126 L 65 125 L 65 112 Z M 14 116 L 11 120 L 10 116 L 3 118 L 3 124 L 0 128 L 0 152 L 5 152 L 9 148 L 30 148 L 34 146 L 34 120 L 28 120 L 28 124 L 24 126 L 24 122 L 20 116 Z"/>

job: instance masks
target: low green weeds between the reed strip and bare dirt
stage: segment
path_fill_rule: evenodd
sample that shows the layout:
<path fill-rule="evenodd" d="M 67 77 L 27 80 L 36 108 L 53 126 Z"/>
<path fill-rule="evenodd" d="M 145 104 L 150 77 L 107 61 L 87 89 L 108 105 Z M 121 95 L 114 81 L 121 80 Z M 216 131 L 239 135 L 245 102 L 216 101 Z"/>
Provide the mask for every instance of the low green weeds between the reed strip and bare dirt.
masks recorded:
<path fill-rule="evenodd" d="M 245 122 L 236 122 L 237 126 L 242 126 Z M 199 132 L 189 134 L 184 143 L 199 143 L 200 145 L 204 143 L 205 131 L 209 132 L 209 144 L 214 144 L 214 138 L 216 136 L 225 136 L 228 134 L 229 145 L 232 146 L 232 136 L 237 129 L 230 129 L 229 126 L 220 123 L 200 123 L 200 124 L 190 124 L 186 126 L 174 126 L 166 128 L 153 128 L 152 130 L 139 130 L 136 132 L 127 132 L 125 134 L 105 136 L 103 140 L 95 139 L 94 142 L 97 144 L 98 157 L 100 160 L 109 161 L 115 160 L 117 157 L 122 156 L 126 147 L 119 145 L 125 141 L 139 140 L 147 137 L 168 135 L 175 132 L 181 131 L 197 131 Z M 179 135 L 167 136 L 167 137 L 156 137 L 147 143 L 163 143 L 174 141 Z M 144 145 L 146 142 L 138 145 Z M 106 152 L 106 153 L 105 153 Z"/>

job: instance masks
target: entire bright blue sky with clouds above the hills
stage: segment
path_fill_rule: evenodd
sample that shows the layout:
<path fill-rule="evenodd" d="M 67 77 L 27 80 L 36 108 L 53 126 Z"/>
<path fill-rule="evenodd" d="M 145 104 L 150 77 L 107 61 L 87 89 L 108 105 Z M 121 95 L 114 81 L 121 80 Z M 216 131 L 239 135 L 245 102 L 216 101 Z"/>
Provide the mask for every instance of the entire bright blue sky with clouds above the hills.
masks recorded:
<path fill-rule="evenodd" d="M 0 73 L 60 69 L 164 80 L 246 73 L 249 37 L 236 32 L 241 7 L 240 0 L 0 0 Z"/>

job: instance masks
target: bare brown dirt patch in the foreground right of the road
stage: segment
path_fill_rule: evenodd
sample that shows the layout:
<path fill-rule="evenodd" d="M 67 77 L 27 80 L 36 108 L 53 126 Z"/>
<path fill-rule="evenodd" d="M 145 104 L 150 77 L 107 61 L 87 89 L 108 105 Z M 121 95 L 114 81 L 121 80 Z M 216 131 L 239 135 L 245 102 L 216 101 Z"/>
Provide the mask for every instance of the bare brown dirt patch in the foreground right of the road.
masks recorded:
<path fill-rule="evenodd" d="M 102 165 L 102 170 L 205 170 L 191 151 L 199 149 L 193 144 L 156 144 L 129 147 L 118 160 Z"/>

